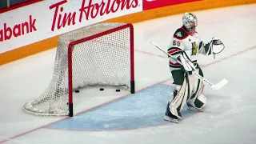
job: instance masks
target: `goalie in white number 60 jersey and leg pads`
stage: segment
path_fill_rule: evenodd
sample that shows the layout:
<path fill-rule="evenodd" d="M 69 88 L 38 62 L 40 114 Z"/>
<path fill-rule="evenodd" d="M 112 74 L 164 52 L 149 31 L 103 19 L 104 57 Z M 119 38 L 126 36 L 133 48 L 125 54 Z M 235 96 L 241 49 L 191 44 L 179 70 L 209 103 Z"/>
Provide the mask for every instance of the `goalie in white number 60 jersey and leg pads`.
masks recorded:
<path fill-rule="evenodd" d="M 202 94 L 204 84 L 193 74 L 196 71 L 203 77 L 198 66 L 198 54 L 218 54 L 224 49 L 222 41 L 213 38 L 210 42 L 202 42 L 196 31 L 198 19 L 190 12 L 182 17 L 181 28 L 175 31 L 168 49 L 169 66 L 174 79 L 175 89 L 170 94 L 170 102 L 166 107 L 164 120 L 178 123 L 182 118 L 181 110 L 187 105 L 188 110 L 203 111 L 207 99 Z"/>

